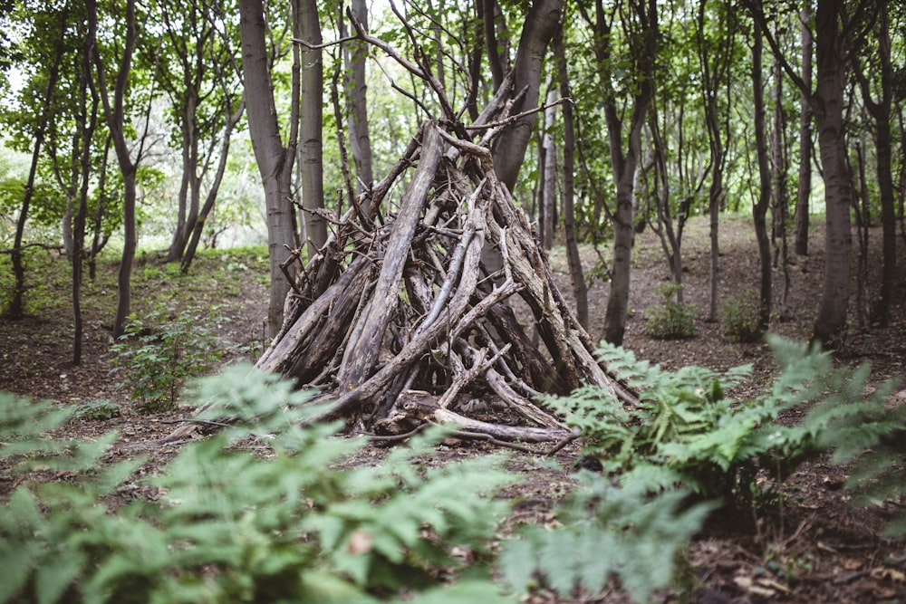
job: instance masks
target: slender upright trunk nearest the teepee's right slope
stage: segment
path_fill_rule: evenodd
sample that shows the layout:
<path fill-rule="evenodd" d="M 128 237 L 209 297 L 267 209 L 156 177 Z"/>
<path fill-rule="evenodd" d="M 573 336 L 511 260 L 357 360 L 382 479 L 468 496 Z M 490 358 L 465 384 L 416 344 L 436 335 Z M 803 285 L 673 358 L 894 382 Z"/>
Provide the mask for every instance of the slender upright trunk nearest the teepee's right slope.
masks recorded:
<path fill-rule="evenodd" d="M 554 36 L 554 54 L 557 59 L 557 75 L 560 78 L 560 96 L 572 99 L 570 91 L 569 72 L 566 70 L 566 51 L 564 48 L 563 28 Z M 582 257 L 579 255 L 579 239 L 575 228 L 575 185 L 573 178 L 575 156 L 575 131 L 573 128 L 573 103 L 564 102 L 564 244 L 566 246 L 566 262 L 569 264 L 570 277 L 573 280 L 573 294 L 575 295 L 576 321 L 588 330 L 588 285 L 582 269 Z"/>

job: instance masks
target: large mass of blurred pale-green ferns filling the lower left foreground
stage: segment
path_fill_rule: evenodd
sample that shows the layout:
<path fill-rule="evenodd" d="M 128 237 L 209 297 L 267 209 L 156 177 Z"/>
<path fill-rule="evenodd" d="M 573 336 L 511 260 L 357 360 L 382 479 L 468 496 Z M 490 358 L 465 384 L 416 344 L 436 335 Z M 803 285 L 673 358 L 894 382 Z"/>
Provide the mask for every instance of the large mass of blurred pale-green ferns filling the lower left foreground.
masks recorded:
<path fill-rule="evenodd" d="M 487 570 L 451 589 L 439 578 L 461 570 L 463 557 L 483 566 L 506 507 L 490 495 L 513 482 L 501 457 L 424 467 L 419 456 L 443 437 L 435 430 L 381 465 L 342 470 L 363 441 L 333 437 L 336 426 L 300 427 L 304 397 L 277 384 L 248 366 L 207 379 L 198 391 L 220 400 L 255 393 L 255 407 L 240 398 L 232 411 L 284 431 L 264 441 L 265 455 L 230 446 L 248 435 L 242 426 L 185 446 L 146 484 L 159 502 L 102 503 L 135 480 L 140 461 L 17 488 L 0 508 L 0 602 L 373 602 L 413 591 L 421 602 L 500 599 Z M 18 430 L 25 446 L 15 455 L 42 467 L 69 451 L 41 436 L 65 415 L 0 398 L 4 439 Z M 82 468 L 99 467 L 110 444 L 93 446 Z"/>

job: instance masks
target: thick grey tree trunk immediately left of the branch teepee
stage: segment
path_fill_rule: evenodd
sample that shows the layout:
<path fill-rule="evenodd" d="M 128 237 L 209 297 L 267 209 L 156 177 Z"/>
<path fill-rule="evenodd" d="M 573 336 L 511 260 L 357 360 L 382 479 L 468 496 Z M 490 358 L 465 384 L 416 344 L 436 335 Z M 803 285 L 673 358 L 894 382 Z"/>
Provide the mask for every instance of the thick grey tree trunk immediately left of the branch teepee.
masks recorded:
<path fill-rule="evenodd" d="M 284 148 L 280 139 L 262 0 L 239 0 L 239 15 L 248 129 L 265 188 L 271 283 L 267 326 L 274 337 L 283 324 L 284 302 L 290 289 L 281 264 L 287 255 L 284 246 L 294 244 L 290 202 L 294 147 L 291 144 L 288 149 Z"/>

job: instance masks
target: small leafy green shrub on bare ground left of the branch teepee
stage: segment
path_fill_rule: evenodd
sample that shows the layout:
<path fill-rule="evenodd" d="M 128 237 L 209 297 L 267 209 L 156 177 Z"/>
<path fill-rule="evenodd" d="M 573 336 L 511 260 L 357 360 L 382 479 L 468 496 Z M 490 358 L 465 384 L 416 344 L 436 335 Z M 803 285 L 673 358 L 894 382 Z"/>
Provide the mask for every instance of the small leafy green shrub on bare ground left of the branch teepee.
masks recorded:
<path fill-rule="evenodd" d="M 140 318 L 130 316 L 125 333 L 113 345 L 113 371 L 120 372 L 120 387 L 148 409 L 176 404 L 186 380 L 204 375 L 223 357 L 215 325 L 217 307 L 177 311 L 159 303 Z"/>

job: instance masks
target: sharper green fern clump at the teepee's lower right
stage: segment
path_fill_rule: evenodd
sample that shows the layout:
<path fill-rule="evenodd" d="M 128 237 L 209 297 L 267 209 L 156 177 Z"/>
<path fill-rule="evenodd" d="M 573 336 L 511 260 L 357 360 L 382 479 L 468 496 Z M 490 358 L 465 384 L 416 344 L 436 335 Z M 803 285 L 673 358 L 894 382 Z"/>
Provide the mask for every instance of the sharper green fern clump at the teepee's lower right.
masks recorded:
<path fill-rule="evenodd" d="M 750 504 L 761 494 L 756 476 L 766 471 L 779 486 L 795 468 L 827 450 L 827 427 L 863 410 L 868 369 L 833 369 L 828 353 L 770 336 L 780 374 L 755 398 L 737 402 L 725 389 L 747 379 L 748 367 L 716 372 L 684 367 L 662 371 L 630 351 L 604 344 L 602 360 L 640 391 L 638 407 L 625 407 L 600 388 L 579 389 L 548 404 L 583 432 L 591 455 L 621 484 L 652 490 L 684 484 L 705 498 Z M 880 394 L 872 395 L 873 398 Z M 798 426 L 775 422 L 787 409 L 816 404 Z M 888 429 L 863 425 L 872 434 Z"/>

